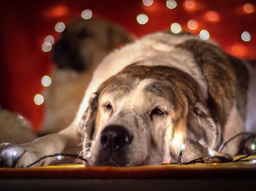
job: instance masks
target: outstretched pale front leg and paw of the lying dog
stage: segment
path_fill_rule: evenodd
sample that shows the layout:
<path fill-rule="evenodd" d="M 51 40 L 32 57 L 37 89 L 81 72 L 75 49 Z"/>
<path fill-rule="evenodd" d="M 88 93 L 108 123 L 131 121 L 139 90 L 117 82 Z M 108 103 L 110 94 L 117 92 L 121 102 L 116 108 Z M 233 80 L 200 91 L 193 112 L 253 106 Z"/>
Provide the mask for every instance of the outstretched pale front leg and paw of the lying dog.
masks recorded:
<path fill-rule="evenodd" d="M 68 128 L 60 133 L 46 135 L 22 145 L 3 143 L 0 145 L 0 167 L 27 167 L 42 156 L 75 148 L 79 151 L 76 130 Z M 48 165 L 56 158 L 46 158 L 32 167 Z"/>

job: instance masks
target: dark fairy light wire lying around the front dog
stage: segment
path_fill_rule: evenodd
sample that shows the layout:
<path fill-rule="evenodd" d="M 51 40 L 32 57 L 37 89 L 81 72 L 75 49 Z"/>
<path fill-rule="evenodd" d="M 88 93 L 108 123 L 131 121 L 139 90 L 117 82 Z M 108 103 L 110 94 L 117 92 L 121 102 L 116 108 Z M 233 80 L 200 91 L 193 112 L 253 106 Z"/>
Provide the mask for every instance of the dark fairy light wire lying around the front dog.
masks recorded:
<path fill-rule="evenodd" d="M 232 141 L 234 138 L 237 138 L 238 136 L 241 136 L 241 135 L 250 135 L 249 137 L 253 137 L 253 140 L 252 142 L 254 142 L 254 137 L 255 137 L 255 134 L 253 133 L 249 133 L 249 132 L 242 132 L 242 133 L 238 133 L 236 135 L 234 135 L 232 138 L 228 139 L 228 141 L 224 142 L 223 145 L 220 147 L 219 151 L 221 151 L 230 141 Z M 247 137 L 247 138 L 249 138 Z M 245 139 L 247 139 L 245 138 Z M 240 158 L 236 159 L 236 160 L 232 160 L 232 159 L 226 159 L 225 157 L 223 156 L 213 156 L 213 157 L 210 157 L 210 158 L 207 158 L 207 157 L 200 157 L 200 158 L 197 158 L 197 159 L 193 159 L 189 162 L 185 162 L 185 163 L 180 163 L 181 161 L 181 156 L 183 154 L 183 150 L 184 148 L 180 151 L 179 153 L 179 159 L 177 161 L 177 163 L 164 163 L 164 164 L 195 164 L 195 163 L 216 163 L 216 162 L 209 162 L 208 159 L 214 159 L 214 158 L 217 158 L 217 159 L 220 159 L 221 163 L 230 163 L 230 162 L 246 162 L 246 160 L 242 160 L 242 159 L 246 159 L 248 158 L 249 156 L 251 155 L 254 155 L 256 154 L 256 151 L 253 151 L 251 152 L 250 154 L 247 154 L 245 156 L 241 156 Z M 72 157 L 72 158 L 78 158 L 78 159 L 81 159 L 82 161 L 84 161 L 85 163 L 88 163 L 88 160 L 83 158 L 81 155 L 79 154 L 65 154 L 65 153 L 57 153 L 57 154 L 52 154 L 52 155 L 45 155 L 43 156 L 42 158 L 36 160 L 35 162 L 29 164 L 26 166 L 26 168 L 28 167 L 32 167 L 32 165 L 35 165 L 37 163 L 39 163 L 41 160 L 43 159 L 46 159 L 46 158 L 51 158 L 51 157 L 55 157 L 55 156 L 69 156 L 69 157 Z M 250 159 L 251 160 L 251 159 Z"/>

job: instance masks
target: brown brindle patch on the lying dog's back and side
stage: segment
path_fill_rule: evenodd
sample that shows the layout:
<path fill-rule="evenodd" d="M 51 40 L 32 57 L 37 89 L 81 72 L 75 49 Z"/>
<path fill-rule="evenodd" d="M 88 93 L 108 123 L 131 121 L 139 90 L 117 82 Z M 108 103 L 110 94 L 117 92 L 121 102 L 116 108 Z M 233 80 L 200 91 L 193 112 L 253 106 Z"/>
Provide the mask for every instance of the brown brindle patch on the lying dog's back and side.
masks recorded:
<path fill-rule="evenodd" d="M 220 123 L 221 129 L 224 128 L 237 99 L 241 99 L 237 101 L 244 116 L 246 96 L 238 91 L 242 90 L 244 91 L 242 94 L 246 94 L 248 80 L 245 77 L 247 70 L 242 63 L 228 56 L 217 46 L 203 41 L 188 40 L 178 46 L 189 50 L 194 55 L 207 79 L 208 105 L 213 116 Z"/>

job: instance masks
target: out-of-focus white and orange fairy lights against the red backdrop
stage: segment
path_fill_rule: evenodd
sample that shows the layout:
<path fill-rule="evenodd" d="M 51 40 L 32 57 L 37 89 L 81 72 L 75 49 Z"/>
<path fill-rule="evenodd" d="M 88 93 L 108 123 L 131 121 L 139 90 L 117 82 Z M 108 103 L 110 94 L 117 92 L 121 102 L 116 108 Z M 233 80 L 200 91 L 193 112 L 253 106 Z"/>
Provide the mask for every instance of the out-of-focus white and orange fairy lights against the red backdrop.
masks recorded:
<path fill-rule="evenodd" d="M 154 4 L 154 0 L 142 0 L 142 3 L 144 6 L 150 7 Z M 166 1 L 166 7 L 170 10 L 176 9 L 178 6 L 183 6 L 184 10 L 187 11 L 193 11 L 197 9 L 197 2 L 195 0 L 185 0 L 183 2 L 178 3 L 175 0 L 167 0 Z M 240 6 L 241 11 L 243 14 L 251 14 L 255 12 L 255 7 L 251 3 L 245 3 Z M 81 17 L 83 19 L 90 19 L 92 18 L 93 12 L 92 10 L 85 9 L 84 11 L 81 12 Z M 205 19 L 208 20 L 208 22 L 218 22 L 221 18 L 221 15 L 217 11 L 209 10 L 206 11 L 204 14 Z M 141 13 L 138 14 L 135 18 L 138 22 L 138 24 L 144 25 L 147 24 L 150 18 L 145 14 Z M 187 22 L 187 27 L 191 31 L 195 31 L 196 29 L 199 29 L 199 23 L 195 19 L 190 19 Z M 55 31 L 56 32 L 63 32 L 65 29 L 65 24 L 63 22 L 58 22 L 55 24 Z M 183 29 L 180 23 L 171 23 L 170 24 L 170 30 L 173 33 L 180 33 Z M 201 28 L 199 32 L 199 37 L 201 40 L 208 40 L 210 38 L 210 32 L 205 29 Z M 251 34 L 248 31 L 243 31 L 241 33 L 241 39 L 244 42 L 249 42 L 251 40 Z M 48 35 L 45 37 L 44 42 L 42 44 L 42 50 L 43 52 L 49 52 L 52 49 L 52 45 L 55 42 L 54 38 L 52 35 Z M 236 48 L 234 46 L 234 48 Z M 235 50 L 235 49 L 234 49 Z M 44 75 L 42 77 L 41 83 L 43 87 L 48 87 L 51 85 L 51 78 L 48 75 Z M 36 105 L 41 105 L 44 103 L 44 97 L 41 94 L 36 94 L 34 96 L 34 103 Z"/>

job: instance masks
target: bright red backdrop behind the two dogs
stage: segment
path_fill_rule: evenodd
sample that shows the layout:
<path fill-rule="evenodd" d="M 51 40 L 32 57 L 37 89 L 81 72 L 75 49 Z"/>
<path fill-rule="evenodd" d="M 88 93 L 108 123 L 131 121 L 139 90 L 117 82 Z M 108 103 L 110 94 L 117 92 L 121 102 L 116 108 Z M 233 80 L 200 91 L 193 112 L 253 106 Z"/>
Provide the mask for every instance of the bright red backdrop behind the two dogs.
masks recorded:
<path fill-rule="evenodd" d="M 42 121 L 43 104 L 34 104 L 35 94 L 43 90 L 41 78 L 53 68 L 51 52 L 43 52 L 42 44 L 47 35 L 55 41 L 60 33 L 57 22 L 67 23 L 80 17 L 82 10 L 90 9 L 93 16 L 100 16 L 125 27 L 135 35 L 170 29 L 171 23 L 180 23 L 183 31 L 189 19 L 199 27 L 191 31 L 199 34 L 207 29 L 210 37 L 229 54 L 242 58 L 256 58 L 255 1 L 199 1 L 193 9 L 185 9 L 184 1 L 177 0 L 175 9 L 168 9 L 166 1 L 157 1 L 147 7 L 140 0 L 129 1 L 5 1 L 0 5 L 0 105 L 19 112 L 32 121 L 37 129 Z M 246 13 L 242 6 L 252 3 L 254 11 Z M 220 19 L 210 22 L 207 11 L 217 11 Z M 148 23 L 138 24 L 138 14 L 146 14 Z M 243 31 L 250 32 L 251 41 L 241 39 Z"/>

